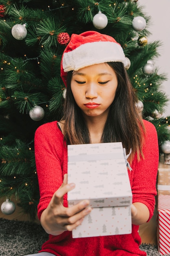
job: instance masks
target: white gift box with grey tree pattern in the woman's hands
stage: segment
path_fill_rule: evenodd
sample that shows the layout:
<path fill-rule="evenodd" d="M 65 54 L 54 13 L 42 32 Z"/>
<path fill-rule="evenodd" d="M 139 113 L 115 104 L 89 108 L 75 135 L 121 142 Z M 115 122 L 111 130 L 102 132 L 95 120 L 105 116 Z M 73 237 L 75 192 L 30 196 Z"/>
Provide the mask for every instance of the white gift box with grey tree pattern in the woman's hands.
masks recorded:
<path fill-rule="evenodd" d="M 68 145 L 68 207 L 88 199 L 93 208 L 73 238 L 131 233 L 132 191 L 121 142 Z"/>

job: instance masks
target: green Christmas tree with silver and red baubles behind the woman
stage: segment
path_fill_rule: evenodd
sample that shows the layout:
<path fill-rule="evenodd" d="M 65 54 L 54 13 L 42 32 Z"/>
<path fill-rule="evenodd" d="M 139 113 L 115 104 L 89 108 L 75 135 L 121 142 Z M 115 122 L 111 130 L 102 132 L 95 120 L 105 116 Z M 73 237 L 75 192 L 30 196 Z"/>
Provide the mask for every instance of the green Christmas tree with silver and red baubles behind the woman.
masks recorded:
<path fill-rule="evenodd" d="M 170 117 L 162 117 L 168 97 L 160 86 L 166 75 L 154 64 L 161 42 L 148 43 L 149 25 L 140 0 L 0 2 L 0 197 L 8 198 L 6 204 L 15 197 L 35 219 L 34 133 L 62 117 L 66 88 L 60 61 L 73 33 L 95 30 L 121 44 L 139 112 L 155 125 L 161 153 L 162 143 L 170 140 Z M 4 207 L 5 214 L 12 212 Z"/>

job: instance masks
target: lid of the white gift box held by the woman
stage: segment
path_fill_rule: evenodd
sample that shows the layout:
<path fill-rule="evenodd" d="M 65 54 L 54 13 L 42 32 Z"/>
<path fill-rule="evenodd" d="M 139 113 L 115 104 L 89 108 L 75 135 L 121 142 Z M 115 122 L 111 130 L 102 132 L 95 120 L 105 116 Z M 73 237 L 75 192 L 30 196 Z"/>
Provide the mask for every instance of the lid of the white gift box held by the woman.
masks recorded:
<path fill-rule="evenodd" d="M 132 191 L 121 142 L 68 145 L 68 205 L 88 199 L 92 207 L 126 206 Z"/>

